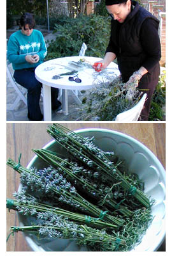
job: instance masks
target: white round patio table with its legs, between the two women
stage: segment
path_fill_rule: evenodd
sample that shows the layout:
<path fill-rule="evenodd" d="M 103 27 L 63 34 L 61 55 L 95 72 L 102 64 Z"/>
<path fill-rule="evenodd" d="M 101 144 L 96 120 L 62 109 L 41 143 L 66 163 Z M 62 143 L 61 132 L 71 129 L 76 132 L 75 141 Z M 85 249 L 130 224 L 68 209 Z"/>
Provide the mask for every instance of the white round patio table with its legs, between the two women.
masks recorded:
<path fill-rule="evenodd" d="M 117 64 L 113 62 L 110 63 L 106 69 L 106 74 L 104 74 L 103 71 L 96 72 L 91 66 L 78 67 L 75 65 L 81 59 L 84 59 L 86 63 L 89 61 L 92 64 L 102 60 L 96 57 L 71 56 L 45 61 L 36 68 L 35 77 L 43 84 L 43 115 L 45 121 L 52 120 L 51 87 L 62 89 L 62 111 L 65 115 L 68 115 L 68 90 L 71 90 L 76 102 L 82 104 L 77 92 L 88 90 L 102 83 L 110 83 L 110 81 L 120 74 Z M 71 61 L 75 61 L 75 63 L 71 63 Z M 64 75 L 65 73 L 71 72 L 71 70 L 77 71 L 76 74 L 82 80 L 81 83 L 69 81 L 69 76 L 75 76 L 76 74 Z M 59 76 L 61 77 L 60 79 Z"/>

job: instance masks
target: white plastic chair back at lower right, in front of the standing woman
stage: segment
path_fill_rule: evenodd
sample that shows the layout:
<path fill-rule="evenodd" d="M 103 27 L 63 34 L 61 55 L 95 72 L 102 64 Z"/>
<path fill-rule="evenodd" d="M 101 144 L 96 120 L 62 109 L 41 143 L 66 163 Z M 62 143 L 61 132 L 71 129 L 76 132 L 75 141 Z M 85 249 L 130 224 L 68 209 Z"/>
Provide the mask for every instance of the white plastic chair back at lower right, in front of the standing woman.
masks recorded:
<path fill-rule="evenodd" d="M 120 122 L 138 121 L 141 110 L 143 109 L 143 106 L 145 104 L 146 98 L 147 98 L 147 93 L 144 93 L 143 97 L 141 97 L 140 101 L 136 104 L 136 106 L 118 114 L 117 117 L 115 118 L 115 121 L 120 121 Z"/>

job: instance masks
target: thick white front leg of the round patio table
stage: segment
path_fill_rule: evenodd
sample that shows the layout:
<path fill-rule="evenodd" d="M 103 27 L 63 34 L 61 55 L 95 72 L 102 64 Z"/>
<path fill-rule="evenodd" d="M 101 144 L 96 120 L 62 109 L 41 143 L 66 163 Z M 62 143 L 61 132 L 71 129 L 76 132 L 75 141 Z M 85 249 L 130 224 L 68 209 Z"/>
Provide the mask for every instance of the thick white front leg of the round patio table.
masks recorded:
<path fill-rule="evenodd" d="M 43 84 L 43 118 L 45 121 L 52 120 L 51 87 Z"/>

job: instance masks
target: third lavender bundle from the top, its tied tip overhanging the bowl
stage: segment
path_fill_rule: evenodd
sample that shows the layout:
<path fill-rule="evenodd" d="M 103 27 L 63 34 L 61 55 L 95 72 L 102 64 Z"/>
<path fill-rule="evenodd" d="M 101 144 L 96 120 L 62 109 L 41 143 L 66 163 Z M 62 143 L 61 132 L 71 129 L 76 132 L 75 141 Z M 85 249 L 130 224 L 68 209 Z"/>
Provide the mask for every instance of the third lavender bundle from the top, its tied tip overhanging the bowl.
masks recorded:
<path fill-rule="evenodd" d="M 8 159 L 7 164 L 16 170 L 15 166 L 17 166 L 17 163 L 15 161 Z M 106 211 L 101 211 L 96 205 L 85 200 L 85 198 L 77 193 L 75 187 L 71 186 L 71 183 L 64 179 L 61 174 L 57 173 L 56 170 L 52 170 L 56 177 L 55 180 L 53 180 L 53 177 L 50 175 L 50 168 L 49 170 L 44 169 L 42 173 L 39 174 L 39 171 L 35 173 L 34 169 L 29 170 L 20 165 L 16 171 L 21 175 L 22 184 L 27 187 L 29 186 L 31 190 L 36 193 L 39 191 L 45 194 L 50 193 L 52 196 L 56 195 L 57 200 L 70 204 L 87 212 L 92 217 L 113 223 L 114 225 L 118 226 L 124 223 L 124 220 L 111 216 L 107 214 Z"/>

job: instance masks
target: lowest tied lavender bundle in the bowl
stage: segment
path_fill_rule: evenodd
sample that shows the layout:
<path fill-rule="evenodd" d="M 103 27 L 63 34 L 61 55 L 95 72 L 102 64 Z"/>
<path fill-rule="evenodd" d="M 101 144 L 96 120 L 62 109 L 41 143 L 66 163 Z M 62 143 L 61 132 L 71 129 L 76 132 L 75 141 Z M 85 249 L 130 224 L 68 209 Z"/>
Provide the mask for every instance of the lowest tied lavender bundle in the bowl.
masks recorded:
<path fill-rule="evenodd" d="M 64 239 L 74 239 L 79 241 L 80 245 L 87 245 L 88 242 L 106 244 L 107 251 L 109 250 L 111 244 L 117 246 L 117 241 L 120 241 L 120 247 L 124 247 L 125 240 L 120 238 L 120 236 L 111 236 L 104 229 L 98 230 L 96 228 L 87 227 L 87 225 L 77 225 L 68 218 L 63 218 L 62 216 L 56 216 L 55 214 L 39 213 L 38 219 L 42 221 L 40 225 L 24 226 L 24 227 L 11 227 L 10 230 L 13 232 L 29 232 L 34 233 L 39 237 L 53 237 L 64 238 Z M 118 247 L 118 246 L 117 246 Z"/>

